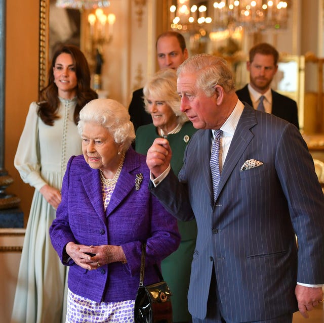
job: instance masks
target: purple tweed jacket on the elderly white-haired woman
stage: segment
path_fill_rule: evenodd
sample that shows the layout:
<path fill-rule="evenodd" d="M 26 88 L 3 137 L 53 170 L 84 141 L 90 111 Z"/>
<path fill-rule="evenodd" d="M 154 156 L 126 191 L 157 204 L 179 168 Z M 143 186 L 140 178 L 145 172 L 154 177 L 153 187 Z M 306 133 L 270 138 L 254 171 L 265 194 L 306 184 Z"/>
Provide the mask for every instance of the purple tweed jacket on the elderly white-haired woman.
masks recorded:
<path fill-rule="evenodd" d="M 136 174 L 142 173 L 135 190 Z M 174 252 L 180 243 L 177 220 L 148 190 L 146 157 L 132 148 L 126 153 L 123 169 L 111 201 L 104 212 L 99 170 L 92 169 L 82 155 L 72 156 L 63 178 L 62 202 L 50 227 L 53 247 L 69 265 L 68 287 L 96 302 L 135 299 L 139 286 L 141 243 L 147 241 L 144 284 L 158 282 L 153 263 Z M 65 245 L 121 245 L 127 264 L 114 262 L 87 270 L 72 260 L 64 262 Z"/>

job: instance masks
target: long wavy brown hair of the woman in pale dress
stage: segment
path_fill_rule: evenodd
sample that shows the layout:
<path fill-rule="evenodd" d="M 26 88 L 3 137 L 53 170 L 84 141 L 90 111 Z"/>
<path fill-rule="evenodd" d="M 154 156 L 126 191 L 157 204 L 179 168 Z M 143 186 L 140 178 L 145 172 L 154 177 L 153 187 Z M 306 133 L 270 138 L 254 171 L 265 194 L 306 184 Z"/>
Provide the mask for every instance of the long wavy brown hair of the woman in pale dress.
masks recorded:
<path fill-rule="evenodd" d="M 74 123 L 77 124 L 80 110 L 91 100 L 97 99 L 98 95 L 90 87 L 90 70 L 86 57 L 84 54 L 74 45 L 61 45 L 53 55 L 52 64 L 49 70 L 48 85 L 39 92 L 38 103 L 38 116 L 45 124 L 54 125 L 54 120 L 59 119 L 57 115 L 57 109 L 59 106 L 58 88 L 54 83 L 53 67 L 57 57 L 67 53 L 72 56 L 75 75 L 77 79 L 76 85 L 76 106 L 74 109 Z"/>

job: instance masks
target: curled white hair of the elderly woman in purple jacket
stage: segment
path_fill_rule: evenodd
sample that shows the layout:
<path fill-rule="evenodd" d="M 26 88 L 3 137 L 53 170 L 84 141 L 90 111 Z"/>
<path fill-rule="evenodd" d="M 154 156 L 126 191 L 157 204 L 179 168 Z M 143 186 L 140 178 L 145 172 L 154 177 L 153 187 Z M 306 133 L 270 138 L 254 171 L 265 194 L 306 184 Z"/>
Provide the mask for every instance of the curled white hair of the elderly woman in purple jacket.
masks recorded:
<path fill-rule="evenodd" d="M 130 115 L 127 109 L 117 101 L 111 99 L 90 101 L 80 111 L 77 124 L 79 135 L 82 135 L 87 122 L 94 122 L 106 128 L 116 144 L 124 144 L 123 151 L 127 151 L 135 139 L 134 125 L 130 121 Z"/>

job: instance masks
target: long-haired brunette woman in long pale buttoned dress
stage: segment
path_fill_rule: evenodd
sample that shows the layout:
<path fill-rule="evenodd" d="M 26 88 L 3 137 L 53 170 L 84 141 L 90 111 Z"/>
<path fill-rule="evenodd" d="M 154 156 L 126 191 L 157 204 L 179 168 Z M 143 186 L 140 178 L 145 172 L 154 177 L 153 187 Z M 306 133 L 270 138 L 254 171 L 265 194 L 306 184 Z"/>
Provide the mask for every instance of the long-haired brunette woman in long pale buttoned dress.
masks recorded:
<path fill-rule="evenodd" d="M 80 50 L 64 45 L 54 54 L 49 85 L 41 103 L 29 107 L 14 164 L 35 188 L 21 255 L 12 323 L 58 323 L 63 309 L 66 269 L 53 249 L 49 227 L 61 201 L 61 185 L 71 155 L 82 153 L 79 111 L 97 98 Z M 64 306 L 65 307 L 65 306 Z"/>

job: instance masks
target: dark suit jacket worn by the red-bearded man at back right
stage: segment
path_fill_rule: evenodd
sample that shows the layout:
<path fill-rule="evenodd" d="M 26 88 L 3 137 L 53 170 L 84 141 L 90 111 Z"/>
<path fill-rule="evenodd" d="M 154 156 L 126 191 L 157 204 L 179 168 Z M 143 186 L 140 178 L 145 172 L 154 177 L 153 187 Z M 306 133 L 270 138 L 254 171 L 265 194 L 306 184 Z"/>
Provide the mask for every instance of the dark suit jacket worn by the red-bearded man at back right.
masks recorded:
<path fill-rule="evenodd" d="M 299 129 L 298 110 L 296 101 L 279 94 L 271 89 L 272 94 L 272 114 L 281 119 L 294 124 Z M 247 102 L 252 105 L 248 84 L 236 91 L 236 95 L 241 102 Z"/>

